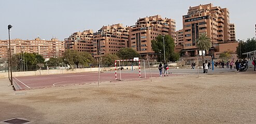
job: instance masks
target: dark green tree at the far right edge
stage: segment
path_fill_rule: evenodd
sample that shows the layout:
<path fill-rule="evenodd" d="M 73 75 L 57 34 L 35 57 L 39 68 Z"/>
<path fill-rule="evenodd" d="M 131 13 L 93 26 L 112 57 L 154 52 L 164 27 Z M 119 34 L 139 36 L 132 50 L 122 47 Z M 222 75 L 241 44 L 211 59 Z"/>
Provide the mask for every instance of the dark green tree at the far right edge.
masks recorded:
<path fill-rule="evenodd" d="M 251 38 L 247 39 L 246 42 L 240 41 L 238 43 L 238 46 L 236 48 L 236 53 L 238 58 L 246 58 L 247 55 L 243 55 L 243 53 L 251 52 L 256 50 L 256 39 Z"/>

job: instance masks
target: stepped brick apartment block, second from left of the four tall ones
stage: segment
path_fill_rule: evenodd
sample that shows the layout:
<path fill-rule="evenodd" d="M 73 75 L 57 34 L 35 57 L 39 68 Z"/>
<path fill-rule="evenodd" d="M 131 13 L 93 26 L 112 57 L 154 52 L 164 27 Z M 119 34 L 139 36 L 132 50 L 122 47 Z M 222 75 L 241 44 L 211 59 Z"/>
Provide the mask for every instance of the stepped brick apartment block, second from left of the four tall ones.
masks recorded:
<path fill-rule="evenodd" d="M 122 24 L 103 26 L 93 33 L 93 56 L 115 54 L 122 48 L 129 47 L 129 29 Z"/>

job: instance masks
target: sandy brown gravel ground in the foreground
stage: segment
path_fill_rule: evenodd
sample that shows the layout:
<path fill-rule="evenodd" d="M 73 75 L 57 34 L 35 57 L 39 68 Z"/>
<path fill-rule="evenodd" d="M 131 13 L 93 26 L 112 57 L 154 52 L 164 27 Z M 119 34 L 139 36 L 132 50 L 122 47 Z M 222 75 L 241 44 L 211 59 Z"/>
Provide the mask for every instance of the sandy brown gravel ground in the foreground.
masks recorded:
<path fill-rule="evenodd" d="M 13 91 L 0 80 L 0 123 L 255 123 L 256 72 Z"/>

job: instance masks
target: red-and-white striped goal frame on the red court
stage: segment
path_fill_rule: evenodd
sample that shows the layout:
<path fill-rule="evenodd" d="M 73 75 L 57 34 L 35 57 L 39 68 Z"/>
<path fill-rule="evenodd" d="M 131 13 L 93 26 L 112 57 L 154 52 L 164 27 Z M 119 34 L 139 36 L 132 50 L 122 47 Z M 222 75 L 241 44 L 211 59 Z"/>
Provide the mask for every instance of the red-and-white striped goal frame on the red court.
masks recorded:
<path fill-rule="evenodd" d="M 122 76 L 121 76 L 121 61 L 138 61 L 138 62 L 139 62 L 139 78 L 141 78 L 141 75 L 140 75 L 140 60 L 142 60 L 143 63 L 144 63 L 144 73 L 145 73 L 145 79 L 146 79 L 145 60 L 144 60 L 144 59 L 139 59 L 139 58 L 134 58 L 134 59 L 115 60 L 115 77 L 116 77 L 116 80 L 117 80 L 117 61 L 119 61 L 120 81 L 122 81 Z"/>

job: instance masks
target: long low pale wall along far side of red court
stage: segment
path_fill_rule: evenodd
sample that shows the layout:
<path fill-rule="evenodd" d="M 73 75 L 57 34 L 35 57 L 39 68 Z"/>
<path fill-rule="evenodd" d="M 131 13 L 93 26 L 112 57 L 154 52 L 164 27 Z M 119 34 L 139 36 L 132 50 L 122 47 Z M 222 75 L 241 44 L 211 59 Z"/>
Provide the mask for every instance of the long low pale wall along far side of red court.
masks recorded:
<path fill-rule="evenodd" d="M 117 67 L 119 68 L 119 67 Z M 123 68 L 131 69 L 131 66 L 123 66 Z M 138 66 L 133 66 L 133 69 L 138 69 Z M 68 74 L 68 73 L 80 73 L 80 72 L 96 72 L 98 68 L 77 68 L 77 69 L 54 69 L 54 70 L 37 70 L 37 71 L 22 71 L 12 72 L 12 76 L 37 76 L 37 75 L 49 75 L 52 74 Z M 101 71 L 115 71 L 115 67 L 103 67 Z M 8 78 L 8 72 L 0 73 L 0 79 Z"/>

